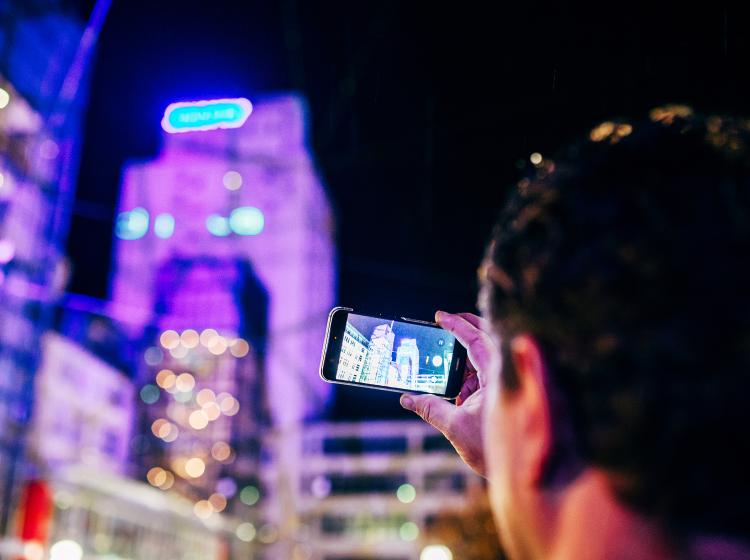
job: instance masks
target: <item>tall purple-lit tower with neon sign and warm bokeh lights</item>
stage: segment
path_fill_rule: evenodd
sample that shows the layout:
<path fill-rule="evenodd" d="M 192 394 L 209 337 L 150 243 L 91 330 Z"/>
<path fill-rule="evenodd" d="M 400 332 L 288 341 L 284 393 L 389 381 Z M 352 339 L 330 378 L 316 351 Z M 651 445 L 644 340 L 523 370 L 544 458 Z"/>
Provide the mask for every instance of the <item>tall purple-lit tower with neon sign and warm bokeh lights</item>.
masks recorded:
<path fill-rule="evenodd" d="M 236 128 L 201 124 L 237 111 L 249 102 L 174 104 L 159 157 L 124 170 L 110 314 L 144 341 L 142 475 L 207 523 L 235 520 L 233 557 L 285 558 L 295 489 L 279 480 L 298 476 L 297 440 L 273 467 L 263 442 L 327 403 L 333 221 L 302 100 L 258 102 Z"/>

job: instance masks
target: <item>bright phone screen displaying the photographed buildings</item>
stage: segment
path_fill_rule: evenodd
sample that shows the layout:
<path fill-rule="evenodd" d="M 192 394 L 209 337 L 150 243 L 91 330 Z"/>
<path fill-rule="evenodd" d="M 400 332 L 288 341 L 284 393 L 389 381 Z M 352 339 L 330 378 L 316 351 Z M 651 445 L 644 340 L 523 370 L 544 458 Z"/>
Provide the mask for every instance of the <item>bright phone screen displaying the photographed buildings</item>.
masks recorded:
<path fill-rule="evenodd" d="M 336 380 L 444 395 L 455 345 L 440 327 L 349 313 Z"/>

